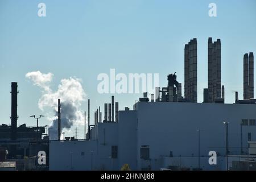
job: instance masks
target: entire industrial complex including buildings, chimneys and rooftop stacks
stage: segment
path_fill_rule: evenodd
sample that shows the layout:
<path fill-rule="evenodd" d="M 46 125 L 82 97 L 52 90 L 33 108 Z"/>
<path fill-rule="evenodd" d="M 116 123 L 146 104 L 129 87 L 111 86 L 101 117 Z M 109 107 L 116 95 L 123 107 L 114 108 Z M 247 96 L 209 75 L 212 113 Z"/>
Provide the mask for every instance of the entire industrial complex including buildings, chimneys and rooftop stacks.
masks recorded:
<path fill-rule="evenodd" d="M 48 126 L 17 127 L 17 87 L 11 83 L 11 126 L 0 126 L 0 170 L 120 170 L 124 164 L 137 171 L 256 170 L 253 52 L 243 56 L 243 100 L 236 92 L 235 102 L 226 104 L 220 39 L 208 39 L 203 103 L 197 102 L 194 38 L 184 47 L 184 92 L 179 75 L 172 73 L 166 86 L 143 93 L 133 108 L 120 110 L 112 96 L 101 103 L 103 112 L 100 106 L 90 108 L 88 100 L 84 139 L 61 139 L 61 98 L 56 98 L 57 137 L 51 137 Z"/>

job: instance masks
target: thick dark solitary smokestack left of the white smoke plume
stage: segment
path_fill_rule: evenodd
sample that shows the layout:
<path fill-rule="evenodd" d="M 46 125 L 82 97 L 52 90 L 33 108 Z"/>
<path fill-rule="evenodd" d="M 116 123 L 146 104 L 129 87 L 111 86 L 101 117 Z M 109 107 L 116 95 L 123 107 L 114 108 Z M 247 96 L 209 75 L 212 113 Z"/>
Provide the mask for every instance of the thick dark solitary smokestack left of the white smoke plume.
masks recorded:
<path fill-rule="evenodd" d="M 17 139 L 17 88 L 17 82 L 11 82 L 11 140 Z"/>

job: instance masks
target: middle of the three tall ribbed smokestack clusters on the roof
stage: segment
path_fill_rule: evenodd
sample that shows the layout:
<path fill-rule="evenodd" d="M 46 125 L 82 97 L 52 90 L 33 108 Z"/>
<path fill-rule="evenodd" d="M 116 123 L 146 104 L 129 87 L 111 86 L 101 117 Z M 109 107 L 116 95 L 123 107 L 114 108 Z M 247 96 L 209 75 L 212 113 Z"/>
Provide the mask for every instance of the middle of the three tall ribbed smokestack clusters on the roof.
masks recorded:
<path fill-rule="evenodd" d="M 221 98 L 221 40 L 208 39 L 208 102 Z"/>

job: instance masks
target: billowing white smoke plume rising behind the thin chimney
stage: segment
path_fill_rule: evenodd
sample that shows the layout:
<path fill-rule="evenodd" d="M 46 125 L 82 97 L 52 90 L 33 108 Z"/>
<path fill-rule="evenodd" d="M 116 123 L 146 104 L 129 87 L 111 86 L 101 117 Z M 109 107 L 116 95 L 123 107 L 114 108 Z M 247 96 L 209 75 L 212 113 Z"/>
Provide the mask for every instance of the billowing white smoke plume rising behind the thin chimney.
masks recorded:
<path fill-rule="evenodd" d="M 39 99 L 40 110 L 51 107 L 55 112 L 52 117 L 51 126 L 57 129 L 57 105 L 58 98 L 61 103 L 61 130 L 70 129 L 74 124 L 83 125 L 84 116 L 80 110 L 81 102 L 85 100 L 86 94 L 78 78 L 62 79 L 56 92 L 53 92 L 49 84 L 52 81 L 52 73 L 29 72 L 26 77 L 34 82 L 34 85 L 42 88 L 42 97 Z"/>

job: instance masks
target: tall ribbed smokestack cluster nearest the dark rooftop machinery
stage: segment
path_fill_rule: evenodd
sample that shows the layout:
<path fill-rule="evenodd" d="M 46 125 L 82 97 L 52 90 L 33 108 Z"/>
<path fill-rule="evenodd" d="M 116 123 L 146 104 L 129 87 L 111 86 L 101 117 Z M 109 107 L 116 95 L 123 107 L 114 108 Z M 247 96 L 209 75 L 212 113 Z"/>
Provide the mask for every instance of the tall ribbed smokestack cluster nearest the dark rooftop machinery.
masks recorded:
<path fill-rule="evenodd" d="M 189 102 L 197 102 L 197 40 L 192 39 L 184 49 L 184 96 Z"/>

